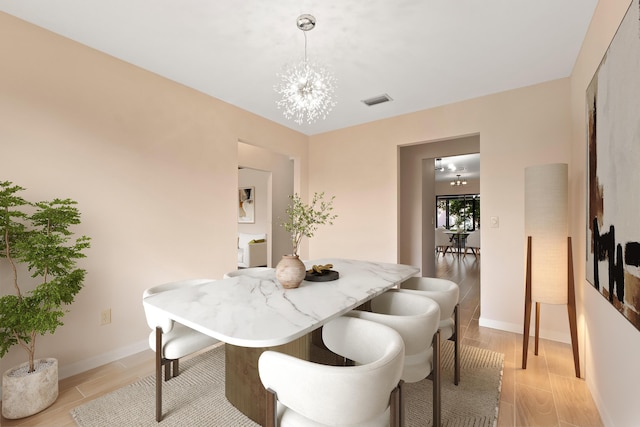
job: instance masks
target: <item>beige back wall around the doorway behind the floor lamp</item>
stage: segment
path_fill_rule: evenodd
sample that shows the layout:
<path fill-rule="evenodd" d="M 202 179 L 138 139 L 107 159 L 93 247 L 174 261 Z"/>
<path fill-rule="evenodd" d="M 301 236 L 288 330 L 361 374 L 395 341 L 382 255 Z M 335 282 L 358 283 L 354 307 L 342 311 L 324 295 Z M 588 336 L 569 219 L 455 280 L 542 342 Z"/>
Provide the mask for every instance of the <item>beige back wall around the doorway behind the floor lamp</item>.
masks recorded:
<path fill-rule="evenodd" d="M 396 261 L 403 245 L 414 244 L 402 239 L 398 243 L 396 237 L 397 147 L 478 134 L 482 158 L 480 321 L 521 332 L 524 168 L 569 162 L 569 93 L 569 79 L 556 80 L 311 137 L 309 156 L 314 162 L 309 165 L 309 190 L 335 195 L 340 217 L 313 239 L 310 256 Z M 491 216 L 500 218 L 499 228 L 489 226 Z M 569 340 L 564 307 L 545 306 L 542 316 L 543 336 Z"/>

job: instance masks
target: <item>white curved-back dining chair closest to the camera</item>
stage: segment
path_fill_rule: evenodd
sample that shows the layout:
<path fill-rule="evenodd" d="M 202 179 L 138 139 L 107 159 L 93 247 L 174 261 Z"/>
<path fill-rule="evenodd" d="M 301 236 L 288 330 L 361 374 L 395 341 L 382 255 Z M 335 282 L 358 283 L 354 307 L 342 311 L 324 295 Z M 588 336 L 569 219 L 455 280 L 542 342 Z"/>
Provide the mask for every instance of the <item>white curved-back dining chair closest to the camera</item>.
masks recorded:
<path fill-rule="evenodd" d="M 392 328 L 338 317 L 322 329 L 325 345 L 355 366 L 329 366 L 265 351 L 258 360 L 269 393 L 268 427 L 397 426 L 404 343 Z"/>

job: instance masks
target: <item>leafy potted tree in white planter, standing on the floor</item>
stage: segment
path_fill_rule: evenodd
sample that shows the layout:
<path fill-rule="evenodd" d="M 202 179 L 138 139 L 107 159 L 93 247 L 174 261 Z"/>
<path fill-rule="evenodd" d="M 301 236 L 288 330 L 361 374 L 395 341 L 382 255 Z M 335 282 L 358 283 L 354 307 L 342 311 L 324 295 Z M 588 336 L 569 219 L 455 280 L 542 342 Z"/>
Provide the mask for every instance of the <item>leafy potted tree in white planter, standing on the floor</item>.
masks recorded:
<path fill-rule="evenodd" d="M 63 306 L 83 286 L 86 271 L 76 261 L 90 240 L 72 239 L 70 227 L 80 223 L 75 201 L 31 203 L 23 190 L 0 182 L 0 277 L 7 279 L 0 289 L 12 290 L 0 297 L 0 357 L 14 345 L 28 354 L 2 375 L 2 415 L 10 419 L 40 412 L 58 397 L 58 361 L 35 359 L 36 337 L 63 324 Z"/>

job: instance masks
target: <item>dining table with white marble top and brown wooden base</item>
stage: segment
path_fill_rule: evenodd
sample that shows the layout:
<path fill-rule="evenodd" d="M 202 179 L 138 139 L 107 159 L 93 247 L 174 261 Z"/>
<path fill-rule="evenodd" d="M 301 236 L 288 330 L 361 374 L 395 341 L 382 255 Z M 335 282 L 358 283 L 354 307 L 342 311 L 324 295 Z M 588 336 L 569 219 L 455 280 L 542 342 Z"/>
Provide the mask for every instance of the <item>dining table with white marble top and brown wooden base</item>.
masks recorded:
<path fill-rule="evenodd" d="M 276 350 L 310 359 L 312 333 L 420 272 L 410 265 L 342 258 L 304 261 L 331 264 L 332 281 L 304 280 L 285 289 L 275 269 L 212 280 L 152 295 L 143 304 L 225 343 L 225 395 L 247 417 L 265 424 L 267 391 L 258 358 Z M 156 329 L 162 333 L 161 328 Z"/>

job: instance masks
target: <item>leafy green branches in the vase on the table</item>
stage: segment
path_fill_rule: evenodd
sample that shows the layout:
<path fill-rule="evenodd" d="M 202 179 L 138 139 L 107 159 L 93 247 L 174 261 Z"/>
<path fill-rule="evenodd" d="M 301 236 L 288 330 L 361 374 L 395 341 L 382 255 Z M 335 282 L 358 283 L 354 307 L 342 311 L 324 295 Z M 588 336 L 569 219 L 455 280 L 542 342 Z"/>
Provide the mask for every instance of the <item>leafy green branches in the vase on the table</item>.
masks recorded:
<path fill-rule="evenodd" d="M 298 194 L 289 196 L 289 199 L 291 203 L 286 210 L 288 219 L 281 225 L 291 233 L 292 253 L 298 255 L 304 236 L 313 237 L 319 225 L 331 225 L 338 217 L 332 213 L 335 196 L 324 200 L 324 192 L 314 193 L 311 204 L 304 203 Z"/>

